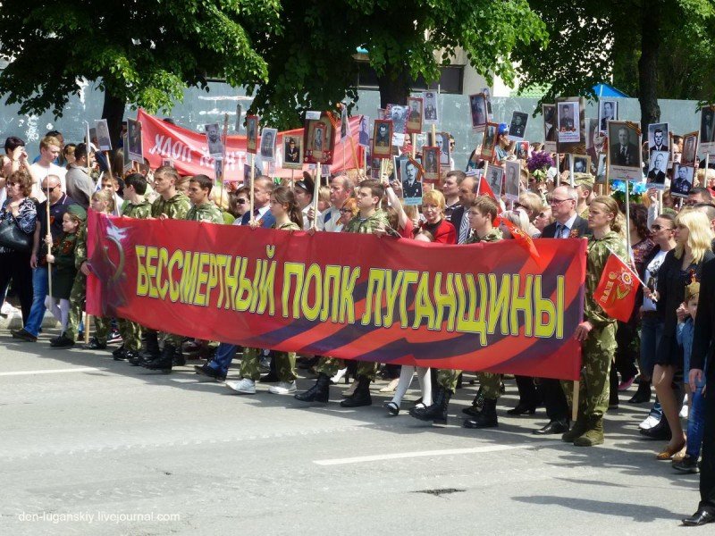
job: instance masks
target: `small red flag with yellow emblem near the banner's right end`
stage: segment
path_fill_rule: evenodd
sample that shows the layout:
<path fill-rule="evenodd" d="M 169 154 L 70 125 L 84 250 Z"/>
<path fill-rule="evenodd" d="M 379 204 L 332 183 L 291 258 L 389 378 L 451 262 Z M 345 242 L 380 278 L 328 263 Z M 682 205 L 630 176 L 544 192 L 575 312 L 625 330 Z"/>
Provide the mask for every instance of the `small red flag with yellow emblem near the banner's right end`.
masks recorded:
<path fill-rule="evenodd" d="M 628 322 L 635 307 L 639 281 L 630 266 L 620 260 L 618 255 L 611 253 L 593 298 L 611 318 Z"/>

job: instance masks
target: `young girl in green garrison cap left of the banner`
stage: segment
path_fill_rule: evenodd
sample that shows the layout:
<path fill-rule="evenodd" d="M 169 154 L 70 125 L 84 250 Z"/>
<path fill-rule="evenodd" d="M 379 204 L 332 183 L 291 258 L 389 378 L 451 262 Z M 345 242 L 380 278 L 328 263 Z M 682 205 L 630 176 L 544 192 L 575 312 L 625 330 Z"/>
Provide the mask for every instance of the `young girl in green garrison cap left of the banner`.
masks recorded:
<path fill-rule="evenodd" d="M 78 242 L 78 231 L 87 221 L 87 212 L 80 205 L 70 205 L 62 219 L 63 235 L 57 246 L 53 247 L 52 237 L 45 239 L 47 247 L 47 263 L 52 265 L 52 295 L 45 298 L 45 306 L 62 324 L 62 331 L 67 329 L 70 315 L 70 293 L 72 282 L 77 274 L 74 264 L 75 249 Z"/>

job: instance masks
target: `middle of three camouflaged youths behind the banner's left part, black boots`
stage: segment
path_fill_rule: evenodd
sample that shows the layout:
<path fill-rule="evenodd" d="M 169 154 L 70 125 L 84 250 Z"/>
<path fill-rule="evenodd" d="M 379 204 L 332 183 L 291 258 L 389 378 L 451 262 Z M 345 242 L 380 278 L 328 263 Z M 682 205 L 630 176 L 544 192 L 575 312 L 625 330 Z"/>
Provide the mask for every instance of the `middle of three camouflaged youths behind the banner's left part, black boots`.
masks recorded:
<path fill-rule="evenodd" d="M 151 215 L 158 220 L 185 220 L 189 214 L 191 202 L 181 192 L 176 190 L 179 173 L 170 166 L 162 166 L 154 173 L 154 189 L 159 197 L 151 205 Z M 159 353 L 158 334 L 147 330 L 147 353 L 144 366 L 152 371 L 172 372 L 173 356 L 181 348 L 181 336 L 166 333 L 164 348 Z M 131 362 L 135 364 L 134 362 Z M 137 363 L 141 364 L 141 363 Z"/>

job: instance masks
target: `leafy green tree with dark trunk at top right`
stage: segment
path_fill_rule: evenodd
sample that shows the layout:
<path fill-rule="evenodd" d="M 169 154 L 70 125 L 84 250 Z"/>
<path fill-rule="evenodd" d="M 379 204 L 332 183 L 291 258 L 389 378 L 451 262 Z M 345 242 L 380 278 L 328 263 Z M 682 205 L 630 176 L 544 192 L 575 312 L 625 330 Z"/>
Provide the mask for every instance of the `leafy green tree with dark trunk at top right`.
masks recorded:
<path fill-rule="evenodd" d="M 677 93 L 678 98 L 702 98 L 708 86 L 700 80 L 708 72 L 707 58 L 715 46 L 711 0 L 530 0 L 529 5 L 551 29 L 549 45 L 520 44 L 512 57 L 518 62 L 522 88 L 550 88 L 543 102 L 559 95 L 593 96 L 593 85 L 612 77 L 617 87 L 638 97 L 645 125 L 660 121 L 658 97 L 671 95 L 669 65 L 675 63 L 682 80 L 690 84 L 690 91 Z M 684 63 L 674 59 L 691 54 L 694 36 L 703 51 L 699 58 L 706 61 L 684 69 Z"/>

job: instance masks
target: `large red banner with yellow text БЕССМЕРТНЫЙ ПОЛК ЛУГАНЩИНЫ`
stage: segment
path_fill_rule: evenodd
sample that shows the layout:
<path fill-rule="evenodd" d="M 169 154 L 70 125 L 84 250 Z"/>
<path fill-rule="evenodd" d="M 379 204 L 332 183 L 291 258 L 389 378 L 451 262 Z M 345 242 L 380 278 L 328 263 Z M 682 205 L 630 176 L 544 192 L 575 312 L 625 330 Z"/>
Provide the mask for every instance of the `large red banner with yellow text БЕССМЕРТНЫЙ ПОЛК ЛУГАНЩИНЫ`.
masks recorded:
<path fill-rule="evenodd" d="M 443 246 L 90 211 L 88 312 L 255 348 L 577 380 L 585 240 Z"/>

